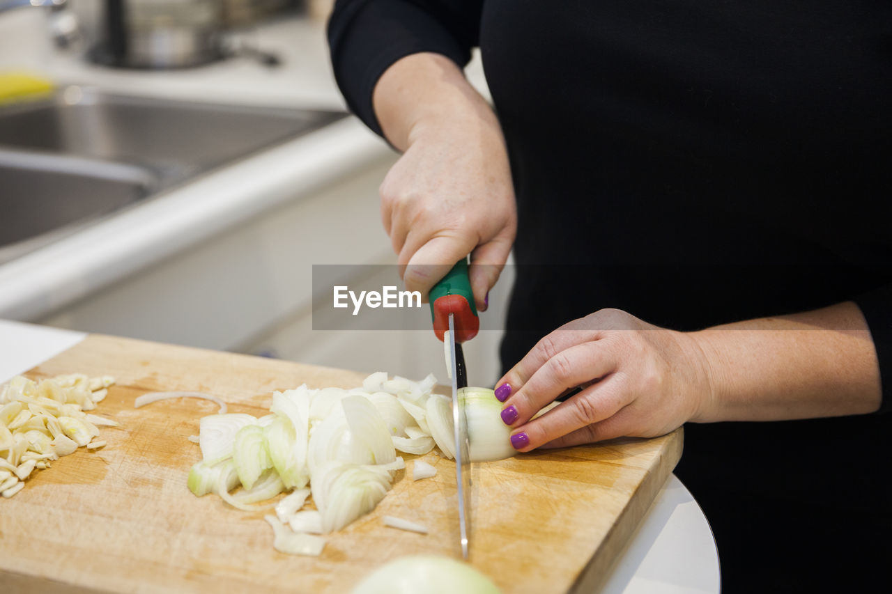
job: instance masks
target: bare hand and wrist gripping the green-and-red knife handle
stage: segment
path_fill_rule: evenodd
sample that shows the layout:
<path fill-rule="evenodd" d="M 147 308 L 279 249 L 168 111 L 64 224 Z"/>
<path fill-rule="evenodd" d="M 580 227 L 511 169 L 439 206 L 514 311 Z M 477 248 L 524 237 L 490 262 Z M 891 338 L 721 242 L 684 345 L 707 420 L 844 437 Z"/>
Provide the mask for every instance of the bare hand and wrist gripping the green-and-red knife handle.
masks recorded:
<path fill-rule="evenodd" d="M 375 104 L 385 135 L 404 150 L 381 185 L 381 215 L 406 288 L 426 296 L 470 253 L 476 306 L 485 310 L 517 226 L 495 114 L 458 66 L 435 54 L 393 64 Z"/>

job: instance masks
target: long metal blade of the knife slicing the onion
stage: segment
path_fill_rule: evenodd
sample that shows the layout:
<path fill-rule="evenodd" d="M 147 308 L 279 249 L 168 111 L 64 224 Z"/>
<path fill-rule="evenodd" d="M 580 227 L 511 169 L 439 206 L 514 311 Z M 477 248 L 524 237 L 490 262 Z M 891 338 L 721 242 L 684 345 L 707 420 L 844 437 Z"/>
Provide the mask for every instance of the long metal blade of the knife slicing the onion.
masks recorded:
<path fill-rule="evenodd" d="M 451 313 L 449 315 L 449 346 L 452 372 L 452 426 L 455 430 L 455 478 L 456 485 L 458 485 L 458 544 L 461 547 L 461 556 L 467 559 L 471 536 L 470 444 L 467 440 L 465 401 L 458 396 L 458 359 L 464 359 L 464 357 L 458 357 L 458 349 L 461 347 L 455 342 L 455 316 Z M 464 360 L 462 360 L 461 367 L 461 375 L 464 375 Z M 467 379 L 464 381 L 467 384 Z M 467 387 L 467 385 L 462 387 Z"/>

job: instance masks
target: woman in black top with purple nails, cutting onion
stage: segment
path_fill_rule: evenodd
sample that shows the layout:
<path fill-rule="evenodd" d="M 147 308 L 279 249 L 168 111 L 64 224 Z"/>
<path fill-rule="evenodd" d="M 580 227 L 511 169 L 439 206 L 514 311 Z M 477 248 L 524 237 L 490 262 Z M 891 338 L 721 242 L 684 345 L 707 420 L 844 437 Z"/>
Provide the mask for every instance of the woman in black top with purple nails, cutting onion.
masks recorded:
<path fill-rule="evenodd" d="M 516 449 L 687 424 L 675 472 L 725 591 L 851 590 L 892 553 L 890 26 L 866 0 L 342 0 L 329 23 L 351 109 L 402 152 L 381 194 L 407 288 L 470 253 L 485 309 L 515 252 Z"/>

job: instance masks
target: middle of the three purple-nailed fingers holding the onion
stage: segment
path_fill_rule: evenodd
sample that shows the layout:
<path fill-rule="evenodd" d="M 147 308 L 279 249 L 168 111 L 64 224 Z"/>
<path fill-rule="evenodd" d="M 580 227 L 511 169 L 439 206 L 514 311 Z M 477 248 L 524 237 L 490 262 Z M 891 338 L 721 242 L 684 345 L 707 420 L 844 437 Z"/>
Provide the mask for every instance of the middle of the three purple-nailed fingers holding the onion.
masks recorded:
<path fill-rule="evenodd" d="M 605 349 L 602 342 L 574 344 L 546 361 L 529 381 L 508 397 L 502 410 L 502 420 L 508 425 L 523 425 L 567 389 L 603 377 L 615 367 L 614 353 Z M 565 406 L 567 402 L 582 399 L 586 392 L 591 393 L 591 388 L 576 394 L 558 408 Z M 599 420 L 599 418 L 590 419 L 584 425 Z M 582 425 L 583 423 L 580 423 L 566 431 L 572 431 Z"/>

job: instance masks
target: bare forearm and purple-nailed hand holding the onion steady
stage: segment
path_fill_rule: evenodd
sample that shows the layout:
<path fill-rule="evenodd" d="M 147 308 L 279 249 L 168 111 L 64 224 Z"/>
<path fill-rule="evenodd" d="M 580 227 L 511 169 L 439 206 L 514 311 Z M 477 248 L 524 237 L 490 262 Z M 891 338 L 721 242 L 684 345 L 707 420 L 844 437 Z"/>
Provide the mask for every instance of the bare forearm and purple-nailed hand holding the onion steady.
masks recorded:
<path fill-rule="evenodd" d="M 691 333 L 604 309 L 545 336 L 499 386 L 522 451 L 653 437 L 689 421 L 867 414 L 881 400 L 871 332 L 852 301 Z"/>

